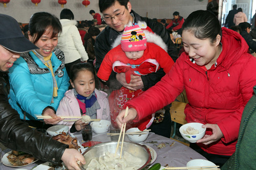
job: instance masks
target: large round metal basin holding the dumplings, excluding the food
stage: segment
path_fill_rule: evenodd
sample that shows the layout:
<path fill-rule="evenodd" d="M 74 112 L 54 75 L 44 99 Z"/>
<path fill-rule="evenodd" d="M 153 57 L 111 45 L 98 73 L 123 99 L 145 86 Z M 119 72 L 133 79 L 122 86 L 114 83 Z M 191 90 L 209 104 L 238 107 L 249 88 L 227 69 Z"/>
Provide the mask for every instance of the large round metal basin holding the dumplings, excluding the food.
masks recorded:
<path fill-rule="evenodd" d="M 86 159 L 86 164 L 83 165 L 84 168 L 87 168 L 88 164 L 93 158 L 99 158 L 100 156 L 105 155 L 106 152 L 115 153 L 116 152 L 117 141 L 104 142 L 94 145 L 93 147 L 87 149 L 82 155 Z M 121 142 L 119 144 L 121 147 Z M 120 147 L 117 151 L 117 154 L 120 154 Z M 139 157 L 142 160 L 141 167 L 139 169 L 144 169 L 151 161 L 151 154 L 148 149 L 141 144 L 134 142 L 123 142 L 123 151 L 126 151 L 132 154 L 135 157 Z"/>

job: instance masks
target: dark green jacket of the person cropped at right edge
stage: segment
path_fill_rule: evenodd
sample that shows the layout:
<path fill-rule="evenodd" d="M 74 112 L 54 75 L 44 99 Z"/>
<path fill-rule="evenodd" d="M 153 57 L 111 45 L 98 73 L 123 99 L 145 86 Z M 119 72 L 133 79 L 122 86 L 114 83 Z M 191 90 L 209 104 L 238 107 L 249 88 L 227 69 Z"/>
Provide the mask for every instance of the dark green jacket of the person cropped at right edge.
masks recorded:
<path fill-rule="evenodd" d="M 254 94 L 244 108 L 236 152 L 222 166 L 222 170 L 256 168 L 256 86 Z"/>

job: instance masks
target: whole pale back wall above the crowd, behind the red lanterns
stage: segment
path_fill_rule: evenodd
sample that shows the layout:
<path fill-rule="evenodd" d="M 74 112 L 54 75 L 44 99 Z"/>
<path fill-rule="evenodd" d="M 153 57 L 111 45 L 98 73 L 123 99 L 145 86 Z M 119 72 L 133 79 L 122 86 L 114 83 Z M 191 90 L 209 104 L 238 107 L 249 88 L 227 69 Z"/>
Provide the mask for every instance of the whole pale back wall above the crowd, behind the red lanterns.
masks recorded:
<path fill-rule="evenodd" d="M 75 15 L 75 20 L 91 20 L 89 14 L 91 9 L 99 13 L 98 0 L 91 0 L 91 4 L 86 8 L 82 5 L 82 0 L 68 0 L 65 8 L 69 8 Z M 173 18 L 173 13 L 179 11 L 180 15 L 186 18 L 191 12 L 206 9 L 208 0 L 131 0 L 132 9 L 141 16 L 150 18 Z M 0 13 L 11 15 L 18 22 L 28 23 L 30 16 L 35 12 L 45 11 L 54 14 L 59 18 L 61 5 L 57 0 L 42 0 L 36 7 L 31 0 L 11 0 L 4 8 L 0 4 Z"/>

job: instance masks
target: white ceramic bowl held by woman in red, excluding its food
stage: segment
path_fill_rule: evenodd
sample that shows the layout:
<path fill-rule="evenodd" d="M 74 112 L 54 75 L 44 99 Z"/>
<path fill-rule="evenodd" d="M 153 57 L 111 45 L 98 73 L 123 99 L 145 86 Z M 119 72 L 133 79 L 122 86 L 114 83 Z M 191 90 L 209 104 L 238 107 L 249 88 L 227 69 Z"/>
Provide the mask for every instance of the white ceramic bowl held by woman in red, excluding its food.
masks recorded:
<path fill-rule="evenodd" d="M 188 124 L 182 125 L 180 127 L 180 134 L 187 141 L 189 141 L 191 143 L 195 143 L 195 142 L 197 142 L 197 140 L 202 139 L 204 137 L 204 135 L 205 135 L 206 128 L 202 128 L 202 125 L 203 124 L 200 124 L 200 123 L 188 123 Z M 183 130 L 186 131 L 186 129 L 189 126 L 194 128 L 195 130 L 198 130 L 199 134 L 195 134 L 195 135 L 184 134 Z"/>

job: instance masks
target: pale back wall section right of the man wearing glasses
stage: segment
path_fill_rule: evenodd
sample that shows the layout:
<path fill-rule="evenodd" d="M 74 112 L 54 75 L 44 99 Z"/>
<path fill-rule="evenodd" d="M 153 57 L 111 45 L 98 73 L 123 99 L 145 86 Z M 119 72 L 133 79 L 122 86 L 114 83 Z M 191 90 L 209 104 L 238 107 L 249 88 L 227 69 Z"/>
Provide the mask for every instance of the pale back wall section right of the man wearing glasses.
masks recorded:
<path fill-rule="evenodd" d="M 196 10 L 206 10 L 208 0 L 130 0 L 132 9 L 141 16 L 149 18 L 173 18 L 178 11 L 180 16 L 186 18 Z"/>

